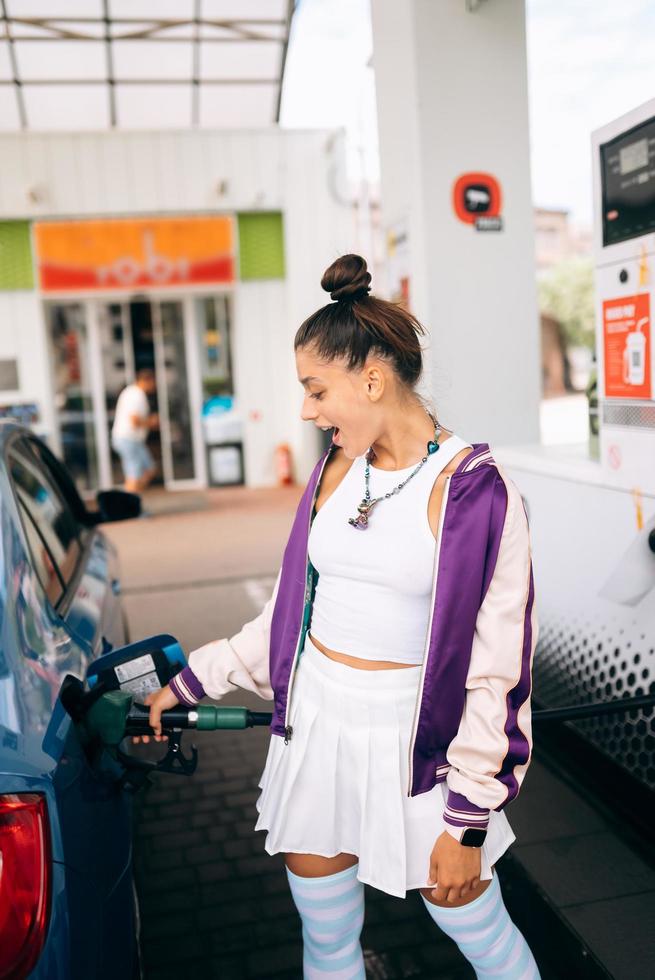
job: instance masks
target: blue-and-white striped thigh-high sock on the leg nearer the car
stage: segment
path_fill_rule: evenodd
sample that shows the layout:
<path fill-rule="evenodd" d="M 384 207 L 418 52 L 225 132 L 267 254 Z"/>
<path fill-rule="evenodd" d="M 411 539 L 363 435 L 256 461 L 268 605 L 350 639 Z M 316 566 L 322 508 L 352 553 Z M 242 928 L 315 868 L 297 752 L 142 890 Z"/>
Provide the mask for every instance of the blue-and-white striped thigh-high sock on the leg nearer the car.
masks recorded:
<path fill-rule="evenodd" d="M 359 864 L 320 878 L 287 868 L 291 895 L 302 920 L 305 980 L 365 980 L 359 934 L 364 925 L 364 885 Z"/>

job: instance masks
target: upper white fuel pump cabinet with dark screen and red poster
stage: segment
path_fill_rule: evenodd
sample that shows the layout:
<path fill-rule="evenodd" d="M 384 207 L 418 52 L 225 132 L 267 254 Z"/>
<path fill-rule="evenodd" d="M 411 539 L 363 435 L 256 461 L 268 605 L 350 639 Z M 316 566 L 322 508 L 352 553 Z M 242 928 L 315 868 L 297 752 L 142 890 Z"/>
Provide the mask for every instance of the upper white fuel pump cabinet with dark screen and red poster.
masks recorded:
<path fill-rule="evenodd" d="M 655 492 L 655 99 L 592 133 L 600 462 Z"/>

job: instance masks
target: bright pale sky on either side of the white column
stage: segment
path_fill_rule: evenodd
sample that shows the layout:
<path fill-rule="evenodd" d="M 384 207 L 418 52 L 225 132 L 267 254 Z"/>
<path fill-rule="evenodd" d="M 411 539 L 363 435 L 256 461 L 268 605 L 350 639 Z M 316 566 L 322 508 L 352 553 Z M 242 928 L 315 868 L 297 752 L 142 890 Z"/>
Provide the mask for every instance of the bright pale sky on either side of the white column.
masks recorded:
<path fill-rule="evenodd" d="M 655 97 L 655 0 L 526 0 L 526 33 L 533 201 L 590 225 L 591 132 Z M 369 0 L 300 0 L 281 122 L 345 126 L 375 181 L 372 44 Z"/>

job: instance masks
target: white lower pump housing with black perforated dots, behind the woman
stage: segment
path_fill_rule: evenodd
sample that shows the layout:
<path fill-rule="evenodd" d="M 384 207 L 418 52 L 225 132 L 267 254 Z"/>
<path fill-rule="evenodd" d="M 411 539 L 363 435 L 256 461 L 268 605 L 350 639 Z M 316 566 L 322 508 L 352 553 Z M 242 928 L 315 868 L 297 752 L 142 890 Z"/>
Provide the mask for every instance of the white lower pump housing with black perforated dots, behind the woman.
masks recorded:
<path fill-rule="evenodd" d="M 502 450 L 494 455 L 502 465 Z M 586 467 L 565 458 L 552 473 L 544 471 L 541 456 L 534 472 L 529 465 L 513 469 L 510 460 L 506 472 L 529 513 L 539 623 L 535 702 L 557 708 L 652 693 L 655 556 L 648 535 L 655 527 L 655 500 L 599 485 L 586 478 Z M 540 731 L 554 727 L 579 733 L 655 788 L 655 709 L 545 722 L 543 729 L 537 723 L 535 742 Z"/>

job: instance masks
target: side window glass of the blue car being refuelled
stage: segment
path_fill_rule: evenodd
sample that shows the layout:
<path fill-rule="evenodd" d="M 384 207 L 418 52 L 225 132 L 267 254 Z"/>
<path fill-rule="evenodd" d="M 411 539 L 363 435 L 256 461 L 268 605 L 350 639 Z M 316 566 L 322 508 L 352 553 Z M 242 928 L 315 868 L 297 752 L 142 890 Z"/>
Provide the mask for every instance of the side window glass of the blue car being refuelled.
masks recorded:
<path fill-rule="evenodd" d="M 77 522 L 26 443 L 12 446 L 8 460 L 37 575 L 48 598 L 56 602 L 80 557 Z"/>

